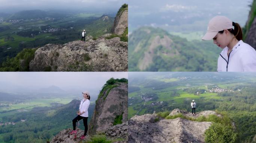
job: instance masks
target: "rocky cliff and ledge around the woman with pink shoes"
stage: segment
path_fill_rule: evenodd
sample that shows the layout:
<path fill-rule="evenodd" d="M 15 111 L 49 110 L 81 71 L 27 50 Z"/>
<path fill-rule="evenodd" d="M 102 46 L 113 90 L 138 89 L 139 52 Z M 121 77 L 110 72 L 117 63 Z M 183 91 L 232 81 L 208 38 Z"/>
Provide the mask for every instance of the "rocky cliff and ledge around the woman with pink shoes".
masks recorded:
<path fill-rule="evenodd" d="M 94 113 L 92 115 L 90 123 L 88 125 L 88 132 L 85 140 L 80 140 L 80 136 L 84 133 L 77 128 L 76 140 L 75 134 L 69 133 L 72 128 L 64 129 L 60 131 L 50 143 L 82 143 L 95 141 L 95 137 L 105 136 L 113 143 L 127 143 L 128 140 L 128 83 L 127 79 L 113 79 L 111 78 L 103 86 Z M 80 101 L 73 100 L 70 104 L 70 108 L 79 107 Z M 78 105 L 77 105 L 78 104 Z M 71 123 L 71 122 L 70 122 Z M 98 138 L 99 139 L 99 138 Z M 98 140 L 96 139 L 96 140 Z M 100 141 L 98 141 L 100 142 Z"/>

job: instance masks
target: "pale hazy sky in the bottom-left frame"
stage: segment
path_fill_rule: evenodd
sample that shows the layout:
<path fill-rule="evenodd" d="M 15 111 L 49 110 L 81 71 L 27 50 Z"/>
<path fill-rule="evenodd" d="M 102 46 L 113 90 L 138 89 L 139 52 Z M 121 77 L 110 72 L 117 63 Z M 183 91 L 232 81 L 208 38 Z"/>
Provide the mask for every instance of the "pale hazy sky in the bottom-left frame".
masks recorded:
<path fill-rule="evenodd" d="M 111 77 L 128 78 L 127 72 L 1 72 L 0 86 L 6 88 L 80 88 L 100 90 Z M 12 87 L 8 87 L 12 86 Z M 13 86 L 14 85 L 14 86 Z M 3 89 L 2 89 L 3 90 Z"/>

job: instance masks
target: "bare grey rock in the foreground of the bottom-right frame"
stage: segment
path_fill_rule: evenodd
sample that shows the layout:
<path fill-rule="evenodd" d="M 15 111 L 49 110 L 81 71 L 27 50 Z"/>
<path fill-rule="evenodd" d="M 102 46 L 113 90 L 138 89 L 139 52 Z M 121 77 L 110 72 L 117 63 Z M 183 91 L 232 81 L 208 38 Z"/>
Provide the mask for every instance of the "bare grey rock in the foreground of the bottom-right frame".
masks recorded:
<path fill-rule="evenodd" d="M 174 109 L 170 115 L 178 113 L 192 116 L 180 109 Z M 211 114 L 219 115 L 214 111 L 203 111 L 196 116 Z M 135 115 L 128 120 L 128 143 L 204 143 L 204 132 L 211 124 L 179 117 L 167 120 L 155 114 Z"/>

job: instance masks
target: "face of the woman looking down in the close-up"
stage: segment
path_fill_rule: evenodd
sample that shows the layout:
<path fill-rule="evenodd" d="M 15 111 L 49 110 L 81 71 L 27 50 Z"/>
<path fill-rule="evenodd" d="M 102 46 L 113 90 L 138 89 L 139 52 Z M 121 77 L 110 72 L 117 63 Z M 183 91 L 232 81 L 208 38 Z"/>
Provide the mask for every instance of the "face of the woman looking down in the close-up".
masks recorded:
<path fill-rule="evenodd" d="M 230 32 L 228 30 L 224 30 L 224 32 L 221 34 L 218 32 L 218 34 L 213 38 L 213 43 L 216 44 L 218 47 L 224 49 L 228 46 L 230 42 Z"/>

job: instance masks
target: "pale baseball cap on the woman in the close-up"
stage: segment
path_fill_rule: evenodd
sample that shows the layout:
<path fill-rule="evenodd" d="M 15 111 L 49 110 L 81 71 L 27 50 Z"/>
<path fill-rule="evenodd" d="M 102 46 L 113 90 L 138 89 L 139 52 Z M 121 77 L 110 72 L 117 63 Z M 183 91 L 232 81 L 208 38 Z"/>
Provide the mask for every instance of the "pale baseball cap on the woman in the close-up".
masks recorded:
<path fill-rule="evenodd" d="M 202 37 L 202 40 L 211 40 L 218 34 L 219 31 L 231 28 L 233 28 L 233 26 L 232 21 L 229 18 L 226 16 L 215 16 L 210 20 L 207 32 Z"/>

